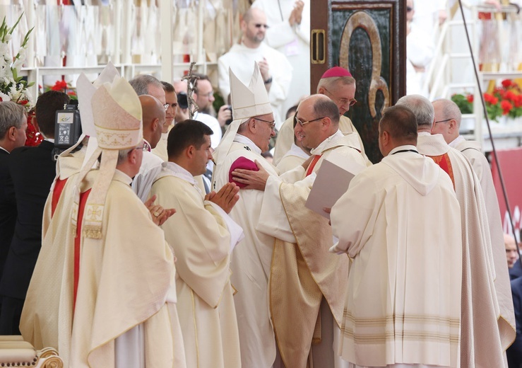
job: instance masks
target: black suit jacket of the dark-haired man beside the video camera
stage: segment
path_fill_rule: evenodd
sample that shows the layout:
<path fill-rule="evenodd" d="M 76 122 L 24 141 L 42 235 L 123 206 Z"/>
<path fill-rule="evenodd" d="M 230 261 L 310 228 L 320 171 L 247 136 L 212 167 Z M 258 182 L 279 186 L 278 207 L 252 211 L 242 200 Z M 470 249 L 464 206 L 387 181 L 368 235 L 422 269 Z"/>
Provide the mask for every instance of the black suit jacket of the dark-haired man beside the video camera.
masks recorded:
<path fill-rule="evenodd" d="M 42 217 L 56 173 L 54 144 L 13 149 L 9 172 L 16 196 L 15 232 L 0 281 L 0 294 L 25 299 L 32 271 L 42 246 Z"/>

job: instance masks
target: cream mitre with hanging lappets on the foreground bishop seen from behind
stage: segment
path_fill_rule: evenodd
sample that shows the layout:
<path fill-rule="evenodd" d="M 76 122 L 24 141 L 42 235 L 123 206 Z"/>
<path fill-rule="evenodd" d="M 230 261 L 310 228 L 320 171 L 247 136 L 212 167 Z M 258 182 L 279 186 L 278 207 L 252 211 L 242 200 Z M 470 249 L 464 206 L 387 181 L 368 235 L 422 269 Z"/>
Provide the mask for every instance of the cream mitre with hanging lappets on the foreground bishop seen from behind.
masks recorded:
<path fill-rule="evenodd" d="M 112 84 L 97 88 L 91 99 L 97 149 L 83 166 L 76 183 L 73 227 L 76 231 L 81 182 L 101 155 L 100 169 L 90 192 L 83 218 L 82 232 L 88 238 L 102 238 L 102 219 L 107 190 L 114 176 L 118 152 L 132 149 L 143 142 L 141 103 L 138 95 L 124 78 L 116 77 Z"/>

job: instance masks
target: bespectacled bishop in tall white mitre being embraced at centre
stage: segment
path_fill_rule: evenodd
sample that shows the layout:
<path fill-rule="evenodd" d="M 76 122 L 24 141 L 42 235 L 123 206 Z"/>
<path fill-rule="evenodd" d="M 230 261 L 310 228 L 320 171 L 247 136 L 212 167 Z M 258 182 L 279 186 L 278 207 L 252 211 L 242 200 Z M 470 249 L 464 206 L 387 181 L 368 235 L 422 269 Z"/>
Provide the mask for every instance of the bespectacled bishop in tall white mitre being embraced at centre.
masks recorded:
<path fill-rule="evenodd" d="M 275 134 L 274 117 L 259 67 L 249 86 L 244 86 L 230 71 L 230 95 L 235 120 L 213 157 L 213 189 L 232 182 L 236 167 L 256 168 L 256 161 L 268 173 L 278 176 L 278 170 L 261 156 Z M 239 201 L 230 217 L 242 226 L 244 240 L 232 253 L 232 284 L 237 290 L 236 306 L 242 367 L 271 368 L 275 360 L 275 338 L 268 311 L 267 286 L 272 260 L 273 236 L 256 231 L 263 192 L 241 190 Z"/>

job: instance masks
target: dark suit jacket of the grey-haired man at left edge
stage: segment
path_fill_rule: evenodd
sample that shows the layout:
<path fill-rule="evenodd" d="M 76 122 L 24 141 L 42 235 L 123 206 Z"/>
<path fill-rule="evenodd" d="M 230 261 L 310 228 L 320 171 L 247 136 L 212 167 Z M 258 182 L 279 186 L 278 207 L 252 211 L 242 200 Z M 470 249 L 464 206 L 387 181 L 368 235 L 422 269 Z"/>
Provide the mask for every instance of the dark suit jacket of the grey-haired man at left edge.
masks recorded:
<path fill-rule="evenodd" d="M 4 272 L 16 222 L 16 200 L 13 180 L 9 174 L 9 156 L 6 151 L 0 149 L 0 276 Z"/>

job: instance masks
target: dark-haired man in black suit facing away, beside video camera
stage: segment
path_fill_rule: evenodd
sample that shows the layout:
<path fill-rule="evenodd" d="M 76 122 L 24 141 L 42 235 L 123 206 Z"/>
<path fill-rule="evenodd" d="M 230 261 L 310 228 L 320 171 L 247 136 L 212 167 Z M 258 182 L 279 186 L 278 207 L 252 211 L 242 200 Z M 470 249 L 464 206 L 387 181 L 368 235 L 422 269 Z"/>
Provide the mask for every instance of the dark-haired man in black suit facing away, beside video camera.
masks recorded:
<path fill-rule="evenodd" d="M 69 96 L 65 93 L 48 91 L 42 94 L 37 100 L 33 121 L 45 140 L 40 146 L 14 149 L 9 158 L 18 214 L 0 281 L 0 335 L 20 334 L 20 314 L 42 246 L 45 201 L 56 173 L 52 157 L 54 120 L 56 111 L 63 110 L 66 103 L 69 103 Z"/>

